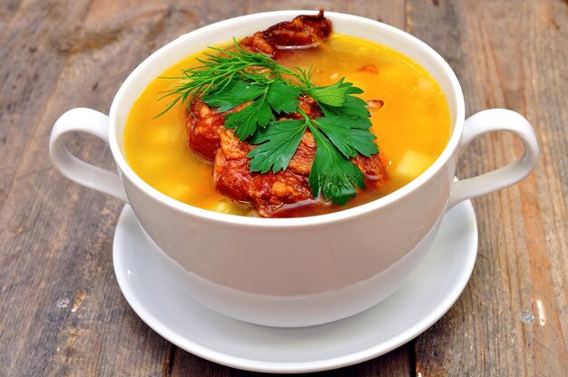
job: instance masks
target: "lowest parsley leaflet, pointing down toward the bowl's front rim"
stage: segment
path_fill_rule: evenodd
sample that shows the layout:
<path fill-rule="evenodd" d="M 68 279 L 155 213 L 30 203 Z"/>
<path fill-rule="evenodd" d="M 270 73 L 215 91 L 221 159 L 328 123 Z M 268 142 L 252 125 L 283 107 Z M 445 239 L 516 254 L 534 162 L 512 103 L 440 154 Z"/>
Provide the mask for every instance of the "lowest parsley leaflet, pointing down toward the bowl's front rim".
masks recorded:
<path fill-rule="evenodd" d="M 365 174 L 341 155 L 314 124 L 308 122 L 308 127 L 317 147 L 308 177 L 312 195 L 317 197 L 321 192 L 325 198 L 343 206 L 355 197 L 355 187 L 365 189 Z"/>

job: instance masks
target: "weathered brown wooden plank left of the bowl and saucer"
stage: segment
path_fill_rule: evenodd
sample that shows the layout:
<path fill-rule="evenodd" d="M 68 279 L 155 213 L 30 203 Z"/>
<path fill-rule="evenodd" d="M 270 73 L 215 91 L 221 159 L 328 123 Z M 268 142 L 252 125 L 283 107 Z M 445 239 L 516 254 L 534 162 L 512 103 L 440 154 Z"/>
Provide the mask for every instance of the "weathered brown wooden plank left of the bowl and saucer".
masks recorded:
<path fill-rule="evenodd" d="M 52 169 L 47 140 L 65 110 L 108 111 L 120 83 L 144 57 L 205 20 L 229 17 L 231 10 L 213 13 L 211 4 L 200 9 L 173 1 L 108 3 L 113 6 L 73 3 L 75 11 L 26 4 L 15 14 L 21 19 L 15 24 L 34 30 L 34 38 L 24 31 L 8 45 L 17 56 L 2 67 L 16 76 L 1 83 L 2 98 L 10 85 L 24 82 L 16 80 L 18 74 L 31 74 L 35 82 L 12 90 L 21 100 L 0 102 L 10 106 L 2 111 L 9 117 L 2 131 L 9 132 L 3 135 L 10 143 L 2 144 L 0 160 L 11 188 L 0 211 L 0 371 L 8 375 L 157 375 L 167 365 L 171 344 L 132 312 L 113 276 L 113 229 L 122 203 Z M 17 39 L 18 30 L 10 35 Z M 29 40 L 39 43 L 38 50 L 27 49 Z M 50 68 L 49 58 L 59 65 Z M 36 77 L 25 72 L 29 62 Z M 98 140 L 73 138 L 70 149 L 113 169 Z"/>

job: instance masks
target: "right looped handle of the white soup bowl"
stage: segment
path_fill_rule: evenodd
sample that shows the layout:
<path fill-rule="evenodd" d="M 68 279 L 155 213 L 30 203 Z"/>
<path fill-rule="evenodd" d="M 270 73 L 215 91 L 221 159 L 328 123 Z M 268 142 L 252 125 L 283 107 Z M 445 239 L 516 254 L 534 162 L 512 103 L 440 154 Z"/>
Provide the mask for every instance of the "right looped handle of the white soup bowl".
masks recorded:
<path fill-rule="evenodd" d="M 513 132 L 524 145 L 524 153 L 520 159 L 488 173 L 453 183 L 447 209 L 457 203 L 504 189 L 526 178 L 538 163 L 538 142 L 531 124 L 514 111 L 491 109 L 477 112 L 465 121 L 464 133 L 460 140 L 461 155 L 470 142 L 487 132 Z"/>

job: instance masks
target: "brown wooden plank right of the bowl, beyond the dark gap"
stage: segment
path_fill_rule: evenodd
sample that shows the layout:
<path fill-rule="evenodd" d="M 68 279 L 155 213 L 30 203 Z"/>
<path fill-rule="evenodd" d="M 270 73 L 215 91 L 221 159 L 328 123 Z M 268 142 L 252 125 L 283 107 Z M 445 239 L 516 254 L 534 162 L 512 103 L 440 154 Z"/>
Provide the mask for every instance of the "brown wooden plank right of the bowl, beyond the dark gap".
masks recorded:
<path fill-rule="evenodd" d="M 567 74 L 568 31 L 560 26 L 568 24 L 566 5 L 410 1 L 408 7 L 410 32 L 454 67 L 468 113 L 490 107 L 521 112 L 543 151 L 529 179 L 475 199 L 480 245 L 474 275 L 450 312 L 418 338 L 416 372 L 563 375 L 568 114 L 562 103 L 568 91 L 556 82 Z M 503 166 L 521 150 L 510 135 L 487 135 L 466 151 L 460 175 Z"/>

